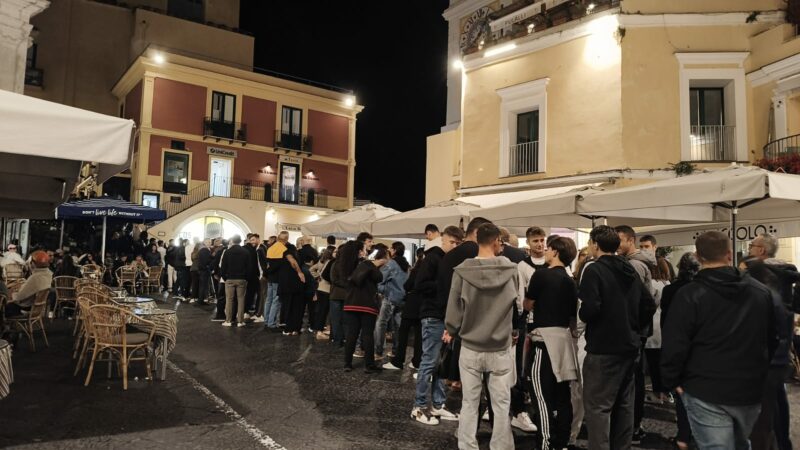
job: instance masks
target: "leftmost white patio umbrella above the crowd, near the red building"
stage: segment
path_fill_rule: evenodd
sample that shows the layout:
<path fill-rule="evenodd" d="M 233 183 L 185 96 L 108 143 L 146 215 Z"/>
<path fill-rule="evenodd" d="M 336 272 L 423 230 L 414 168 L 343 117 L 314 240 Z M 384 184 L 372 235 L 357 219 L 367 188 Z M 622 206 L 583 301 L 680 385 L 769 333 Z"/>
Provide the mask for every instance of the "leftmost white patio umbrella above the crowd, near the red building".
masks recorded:
<path fill-rule="evenodd" d="M 371 232 L 372 222 L 398 213 L 392 208 L 370 203 L 303 224 L 300 230 L 311 236 L 351 237 L 363 231 Z"/>

